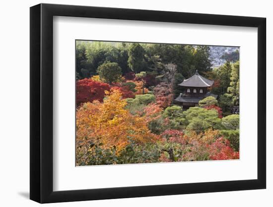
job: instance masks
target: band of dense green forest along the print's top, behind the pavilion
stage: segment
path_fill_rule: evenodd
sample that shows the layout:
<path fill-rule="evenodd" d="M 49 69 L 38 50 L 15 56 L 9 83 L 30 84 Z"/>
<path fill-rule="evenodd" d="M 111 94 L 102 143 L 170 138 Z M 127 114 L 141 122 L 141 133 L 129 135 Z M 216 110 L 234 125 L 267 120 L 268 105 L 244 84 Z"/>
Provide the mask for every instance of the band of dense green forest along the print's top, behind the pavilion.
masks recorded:
<path fill-rule="evenodd" d="M 178 73 L 188 78 L 195 70 L 211 70 L 209 47 L 175 44 L 142 44 L 112 42 L 76 42 L 76 72 L 78 79 L 97 74 L 106 61 L 117 63 L 126 74 L 147 71 L 161 74 L 164 64 L 173 63 Z M 182 78 L 180 78 L 181 80 Z M 181 80 L 182 81 L 182 80 Z"/>

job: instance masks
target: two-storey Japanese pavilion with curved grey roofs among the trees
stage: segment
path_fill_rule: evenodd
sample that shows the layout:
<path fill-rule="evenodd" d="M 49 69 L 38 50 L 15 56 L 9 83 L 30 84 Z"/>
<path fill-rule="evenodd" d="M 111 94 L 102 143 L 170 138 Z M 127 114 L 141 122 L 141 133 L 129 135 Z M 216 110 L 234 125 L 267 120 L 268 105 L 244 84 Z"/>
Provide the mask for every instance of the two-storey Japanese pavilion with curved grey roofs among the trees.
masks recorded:
<path fill-rule="evenodd" d="M 217 99 L 218 95 L 210 93 L 207 89 L 213 83 L 214 80 L 206 79 L 196 70 L 192 77 L 184 79 L 182 83 L 178 84 L 184 88 L 184 92 L 180 93 L 174 100 L 181 104 L 183 109 L 188 109 L 189 107 L 198 106 L 199 101 L 207 96 L 213 96 Z"/>

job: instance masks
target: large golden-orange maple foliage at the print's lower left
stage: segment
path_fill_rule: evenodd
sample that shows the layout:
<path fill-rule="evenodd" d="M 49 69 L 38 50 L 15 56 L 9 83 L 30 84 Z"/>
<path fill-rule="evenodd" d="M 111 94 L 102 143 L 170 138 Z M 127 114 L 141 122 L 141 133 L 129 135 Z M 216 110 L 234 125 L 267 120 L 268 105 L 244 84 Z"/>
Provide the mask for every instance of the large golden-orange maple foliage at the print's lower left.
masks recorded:
<path fill-rule="evenodd" d="M 76 112 L 77 141 L 102 144 L 103 148 L 115 146 L 118 152 L 130 139 L 138 143 L 155 141 L 144 117 L 133 116 L 126 105 L 119 90 L 108 92 L 103 103 L 83 104 Z"/>

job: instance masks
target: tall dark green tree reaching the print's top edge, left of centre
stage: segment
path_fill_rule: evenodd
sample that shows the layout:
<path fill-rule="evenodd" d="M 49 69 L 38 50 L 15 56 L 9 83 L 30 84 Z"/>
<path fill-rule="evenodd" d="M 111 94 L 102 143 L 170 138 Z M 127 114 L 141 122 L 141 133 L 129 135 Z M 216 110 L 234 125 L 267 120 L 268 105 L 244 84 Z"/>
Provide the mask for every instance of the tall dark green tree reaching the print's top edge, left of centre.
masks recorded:
<path fill-rule="evenodd" d="M 139 43 L 132 43 L 129 47 L 128 66 L 136 73 L 144 68 L 144 49 Z"/>

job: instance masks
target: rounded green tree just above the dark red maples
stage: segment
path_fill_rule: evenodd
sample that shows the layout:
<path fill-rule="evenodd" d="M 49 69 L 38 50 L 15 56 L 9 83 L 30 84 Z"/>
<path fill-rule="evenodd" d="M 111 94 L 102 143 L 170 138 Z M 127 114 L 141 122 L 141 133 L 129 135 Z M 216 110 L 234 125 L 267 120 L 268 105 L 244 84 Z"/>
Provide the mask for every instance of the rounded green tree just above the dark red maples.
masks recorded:
<path fill-rule="evenodd" d="M 122 75 L 121 68 L 117 63 L 105 62 L 97 69 L 101 78 L 107 83 L 119 81 Z"/>

